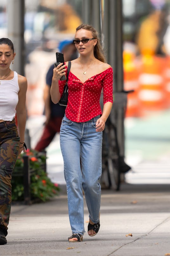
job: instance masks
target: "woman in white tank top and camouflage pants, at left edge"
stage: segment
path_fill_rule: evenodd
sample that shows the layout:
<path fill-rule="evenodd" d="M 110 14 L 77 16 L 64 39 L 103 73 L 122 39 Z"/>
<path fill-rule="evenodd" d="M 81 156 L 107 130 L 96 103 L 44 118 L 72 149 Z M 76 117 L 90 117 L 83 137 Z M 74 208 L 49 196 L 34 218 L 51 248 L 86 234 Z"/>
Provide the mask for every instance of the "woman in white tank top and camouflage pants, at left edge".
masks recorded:
<path fill-rule="evenodd" d="M 10 70 L 16 53 L 10 39 L 0 39 L 0 245 L 7 243 L 11 208 L 11 176 L 24 151 L 27 80 Z M 18 131 L 15 124 L 17 115 Z"/>

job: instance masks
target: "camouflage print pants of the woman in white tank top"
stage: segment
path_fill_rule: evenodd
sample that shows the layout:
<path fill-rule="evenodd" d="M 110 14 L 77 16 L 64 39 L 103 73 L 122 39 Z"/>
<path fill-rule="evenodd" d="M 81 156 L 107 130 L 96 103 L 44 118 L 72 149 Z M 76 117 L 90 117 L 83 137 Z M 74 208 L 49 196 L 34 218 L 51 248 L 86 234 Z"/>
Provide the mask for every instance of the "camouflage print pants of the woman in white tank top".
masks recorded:
<path fill-rule="evenodd" d="M 0 228 L 7 235 L 11 209 L 11 177 L 19 150 L 15 120 L 0 123 Z"/>

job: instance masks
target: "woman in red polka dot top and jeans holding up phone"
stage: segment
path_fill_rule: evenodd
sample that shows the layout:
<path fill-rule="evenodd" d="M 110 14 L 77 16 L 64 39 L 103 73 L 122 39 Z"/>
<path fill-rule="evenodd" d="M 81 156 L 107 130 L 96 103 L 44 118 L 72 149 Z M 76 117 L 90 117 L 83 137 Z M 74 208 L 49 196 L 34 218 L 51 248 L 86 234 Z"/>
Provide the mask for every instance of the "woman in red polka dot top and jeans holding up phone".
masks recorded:
<path fill-rule="evenodd" d="M 76 29 L 75 46 L 80 57 L 71 61 L 69 97 L 60 129 L 60 146 L 67 184 L 69 220 L 72 236 L 69 242 L 81 242 L 84 229 L 83 190 L 89 211 L 88 235 L 100 228 L 102 131 L 113 103 L 113 70 L 105 63 L 97 32 L 90 25 Z M 60 100 L 67 66 L 54 68 L 51 99 Z M 100 95 L 103 89 L 104 108 Z M 80 161 L 81 159 L 81 161 Z"/>

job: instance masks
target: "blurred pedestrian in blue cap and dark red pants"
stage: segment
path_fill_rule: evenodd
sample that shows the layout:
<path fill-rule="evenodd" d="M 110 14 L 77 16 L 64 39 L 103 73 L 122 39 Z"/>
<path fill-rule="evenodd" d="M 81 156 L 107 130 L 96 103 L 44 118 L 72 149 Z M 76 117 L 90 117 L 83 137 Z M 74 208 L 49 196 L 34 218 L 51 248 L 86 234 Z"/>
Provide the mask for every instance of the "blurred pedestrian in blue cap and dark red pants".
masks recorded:
<path fill-rule="evenodd" d="M 77 58 L 77 50 L 72 40 L 64 40 L 59 43 L 58 49 L 64 54 L 64 60 L 74 60 Z M 35 146 L 35 150 L 44 151 L 54 138 L 57 132 L 60 132 L 62 118 L 65 114 L 65 107 L 59 104 L 54 104 L 51 101 L 50 88 L 53 77 L 54 63 L 50 66 L 46 75 L 46 86 L 44 89 L 44 104 L 45 104 L 45 127 L 39 141 Z"/>

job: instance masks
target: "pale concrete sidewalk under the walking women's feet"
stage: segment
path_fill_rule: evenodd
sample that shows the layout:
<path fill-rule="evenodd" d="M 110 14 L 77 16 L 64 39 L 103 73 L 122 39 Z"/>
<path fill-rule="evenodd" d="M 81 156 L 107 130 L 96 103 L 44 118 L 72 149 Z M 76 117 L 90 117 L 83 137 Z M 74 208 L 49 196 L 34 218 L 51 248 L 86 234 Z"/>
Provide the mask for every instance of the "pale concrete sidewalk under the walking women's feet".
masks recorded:
<path fill-rule="evenodd" d="M 87 231 L 86 203 L 84 213 Z M 122 184 L 119 192 L 102 190 L 100 222 L 95 237 L 86 232 L 83 242 L 69 243 L 63 187 L 47 203 L 12 205 L 8 243 L 0 246 L 0 255 L 163 256 L 170 253 L 169 185 Z"/>

